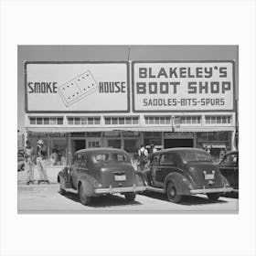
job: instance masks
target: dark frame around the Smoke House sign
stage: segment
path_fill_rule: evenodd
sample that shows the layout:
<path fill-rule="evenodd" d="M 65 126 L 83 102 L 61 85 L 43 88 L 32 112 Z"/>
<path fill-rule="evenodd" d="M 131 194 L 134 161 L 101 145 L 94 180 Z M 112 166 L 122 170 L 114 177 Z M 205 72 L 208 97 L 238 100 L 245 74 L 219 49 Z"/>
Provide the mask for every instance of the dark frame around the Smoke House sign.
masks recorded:
<path fill-rule="evenodd" d="M 29 111 L 27 107 L 27 65 L 29 64 L 125 64 L 127 70 L 127 109 L 123 111 Z M 110 113 L 110 112 L 131 112 L 130 103 L 130 63 L 129 61 L 24 61 L 25 70 L 25 112 L 26 113 Z"/>

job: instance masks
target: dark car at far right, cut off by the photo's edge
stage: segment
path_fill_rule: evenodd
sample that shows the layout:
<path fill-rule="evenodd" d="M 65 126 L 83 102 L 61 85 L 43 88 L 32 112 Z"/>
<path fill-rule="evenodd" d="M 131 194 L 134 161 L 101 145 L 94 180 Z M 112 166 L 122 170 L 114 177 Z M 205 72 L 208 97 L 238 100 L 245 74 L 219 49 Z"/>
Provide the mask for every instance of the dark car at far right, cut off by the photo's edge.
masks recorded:
<path fill-rule="evenodd" d="M 231 151 L 224 155 L 219 163 L 219 171 L 222 176 L 225 176 L 234 188 L 234 192 L 239 190 L 239 152 Z"/>

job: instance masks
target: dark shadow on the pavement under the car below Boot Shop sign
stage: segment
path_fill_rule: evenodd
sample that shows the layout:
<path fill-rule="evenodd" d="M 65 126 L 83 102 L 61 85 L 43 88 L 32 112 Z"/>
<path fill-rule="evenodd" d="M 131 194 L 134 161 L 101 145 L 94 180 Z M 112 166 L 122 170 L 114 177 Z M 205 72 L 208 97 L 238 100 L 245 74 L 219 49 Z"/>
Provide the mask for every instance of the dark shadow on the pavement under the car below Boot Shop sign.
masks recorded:
<path fill-rule="evenodd" d="M 151 197 L 168 202 L 168 198 L 165 194 L 156 193 L 151 191 L 144 192 L 145 197 Z M 170 202 L 171 203 L 171 202 Z M 227 201 L 220 197 L 217 201 L 212 201 L 208 197 L 197 197 L 197 196 L 184 196 L 179 205 L 193 206 L 193 205 L 208 205 L 208 204 L 225 204 Z"/>

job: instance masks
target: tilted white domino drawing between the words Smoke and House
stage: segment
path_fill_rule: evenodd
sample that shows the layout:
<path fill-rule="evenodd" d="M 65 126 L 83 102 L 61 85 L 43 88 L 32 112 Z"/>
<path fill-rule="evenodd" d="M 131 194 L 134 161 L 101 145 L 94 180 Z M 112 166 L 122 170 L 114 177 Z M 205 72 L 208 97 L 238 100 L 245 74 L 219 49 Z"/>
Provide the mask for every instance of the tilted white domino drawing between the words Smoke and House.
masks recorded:
<path fill-rule="evenodd" d="M 59 95 L 65 106 L 68 108 L 73 103 L 98 91 L 97 81 L 93 78 L 91 71 L 88 70 L 73 80 L 65 82 L 59 86 Z"/>

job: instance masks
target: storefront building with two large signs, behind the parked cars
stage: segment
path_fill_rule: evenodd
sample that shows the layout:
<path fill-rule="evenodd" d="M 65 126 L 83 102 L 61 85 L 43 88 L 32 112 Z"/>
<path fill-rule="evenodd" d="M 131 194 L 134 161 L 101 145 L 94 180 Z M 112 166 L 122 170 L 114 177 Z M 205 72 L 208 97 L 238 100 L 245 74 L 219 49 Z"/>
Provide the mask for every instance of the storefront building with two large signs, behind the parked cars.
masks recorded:
<path fill-rule="evenodd" d="M 141 144 L 236 148 L 235 65 L 225 61 L 25 64 L 27 139 L 54 165 L 79 149 L 115 147 L 134 161 Z"/>

